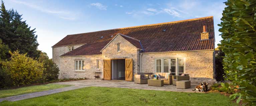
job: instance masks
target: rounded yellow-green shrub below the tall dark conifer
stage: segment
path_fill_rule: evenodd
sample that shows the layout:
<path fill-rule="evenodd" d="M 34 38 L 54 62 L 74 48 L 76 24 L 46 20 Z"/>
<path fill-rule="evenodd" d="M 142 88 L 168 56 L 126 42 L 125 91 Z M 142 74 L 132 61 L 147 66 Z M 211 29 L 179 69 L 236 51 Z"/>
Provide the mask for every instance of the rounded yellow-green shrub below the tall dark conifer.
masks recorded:
<path fill-rule="evenodd" d="M 43 64 L 19 54 L 18 51 L 10 52 L 10 61 L 2 61 L 3 72 L 10 76 L 14 86 L 27 85 L 37 82 L 42 78 L 45 68 Z"/>

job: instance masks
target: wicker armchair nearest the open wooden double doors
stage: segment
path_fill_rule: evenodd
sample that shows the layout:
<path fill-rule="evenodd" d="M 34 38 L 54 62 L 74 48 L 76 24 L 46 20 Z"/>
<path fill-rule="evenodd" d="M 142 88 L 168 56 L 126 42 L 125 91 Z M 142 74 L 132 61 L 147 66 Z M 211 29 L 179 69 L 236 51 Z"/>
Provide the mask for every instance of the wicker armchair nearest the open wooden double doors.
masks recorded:
<path fill-rule="evenodd" d="M 149 75 L 146 75 L 144 73 L 136 73 L 136 75 L 134 75 L 134 78 L 134 83 L 136 84 L 147 84 Z"/>

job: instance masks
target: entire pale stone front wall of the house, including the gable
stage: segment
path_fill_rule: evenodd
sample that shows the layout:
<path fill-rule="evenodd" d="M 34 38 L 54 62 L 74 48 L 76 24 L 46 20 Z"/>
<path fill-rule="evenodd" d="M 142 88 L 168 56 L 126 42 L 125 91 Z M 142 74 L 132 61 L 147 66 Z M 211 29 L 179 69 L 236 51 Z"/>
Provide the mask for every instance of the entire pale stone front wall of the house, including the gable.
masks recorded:
<path fill-rule="evenodd" d="M 117 44 L 120 44 L 120 52 L 117 52 Z M 75 45 L 78 48 L 82 45 Z M 138 49 L 120 35 L 117 35 L 103 50 L 102 55 L 59 57 L 68 52 L 68 46 L 53 47 L 53 61 L 60 69 L 59 78 L 88 78 L 94 79 L 95 71 L 101 72 L 103 77 L 103 60 L 130 58 L 133 59 L 133 73 L 155 73 L 156 58 L 184 58 L 185 73 L 189 74 L 193 83 L 215 82 L 214 80 L 214 51 L 178 52 L 178 53 L 139 53 Z M 142 65 L 140 65 L 142 54 Z M 96 60 L 99 59 L 100 69 L 96 69 Z M 75 71 L 75 60 L 85 61 L 84 71 Z"/>

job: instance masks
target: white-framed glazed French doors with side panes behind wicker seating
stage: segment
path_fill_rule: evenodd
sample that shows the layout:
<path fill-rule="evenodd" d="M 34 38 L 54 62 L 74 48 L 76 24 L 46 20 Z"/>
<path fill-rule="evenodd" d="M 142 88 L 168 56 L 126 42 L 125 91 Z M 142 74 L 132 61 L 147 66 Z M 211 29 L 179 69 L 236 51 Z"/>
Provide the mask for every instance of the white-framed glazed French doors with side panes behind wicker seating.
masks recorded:
<path fill-rule="evenodd" d="M 185 58 L 156 58 L 155 72 L 181 75 L 185 72 Z"/>

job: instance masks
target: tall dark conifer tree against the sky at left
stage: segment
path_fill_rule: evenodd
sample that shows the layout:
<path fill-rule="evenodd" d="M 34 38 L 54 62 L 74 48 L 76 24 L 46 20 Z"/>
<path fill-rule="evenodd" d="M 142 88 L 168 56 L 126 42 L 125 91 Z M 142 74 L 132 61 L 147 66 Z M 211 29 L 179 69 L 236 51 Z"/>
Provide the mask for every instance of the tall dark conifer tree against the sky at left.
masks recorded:
<path fill-rule="evenodd" d="M 22 21 L 22 15 L 13 9 L 7 11 L 2 1 L 0 9 L 0 39 L 9 46 L 11 51 L 19 50 L 27 53 L 29 57 L 39 58 L 37 50 L 38 42 L 35 29 L 30 30 L 26 21 Z"/>

